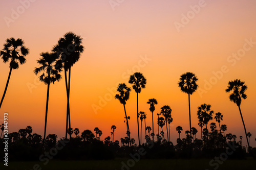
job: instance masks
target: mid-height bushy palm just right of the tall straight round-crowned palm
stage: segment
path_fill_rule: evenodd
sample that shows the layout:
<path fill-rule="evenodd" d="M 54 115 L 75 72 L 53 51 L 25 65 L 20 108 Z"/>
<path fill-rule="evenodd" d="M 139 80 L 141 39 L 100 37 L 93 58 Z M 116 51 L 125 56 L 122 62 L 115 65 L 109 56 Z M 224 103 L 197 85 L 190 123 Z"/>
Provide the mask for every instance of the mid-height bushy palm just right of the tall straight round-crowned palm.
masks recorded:
<path fill-rule="evenodd" d="M 211 105 L 202 104 L 198 107 L 197 115 L 200 122 L 203 122 L 206 128 L 207 132 L 207 124 L 210 120 L 212 120 L 212 114 L 214 114 L 214 111 L 211 109 Z M 206 137 L 208 139 L 208 134 L 206 133 Z"/>

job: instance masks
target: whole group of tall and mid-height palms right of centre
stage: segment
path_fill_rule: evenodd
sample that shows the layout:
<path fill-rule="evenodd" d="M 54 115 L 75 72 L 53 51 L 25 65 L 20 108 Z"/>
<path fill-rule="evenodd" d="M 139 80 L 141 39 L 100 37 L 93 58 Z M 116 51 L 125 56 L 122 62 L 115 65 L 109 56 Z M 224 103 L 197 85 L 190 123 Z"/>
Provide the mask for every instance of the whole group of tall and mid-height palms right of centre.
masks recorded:
<path fill-rule="evenodd" d="M 193 136 L 196 135 L 197 130 L 196 128 L 191 128 L 191 112 L 190 112 L 190 95 L 193 94 L 197 88 L 197 81 L 198 78 L 196 77 L 195 74 L 193 74 L 192 72 L 186 72 L 185 74 L 182 74 L 180 77 L 180 80 L 178 82 L 178 86 L 180 87 L 181 91 L 184 93 L 188 94 L 188 113 L 189 113 L 189 131 L 187 131 L 187 133 L 189 133 L 190 135 L 190 139 L 189 142 L 191 143 L 191 139 L 193 138 Z M 143 111 L 139 112 L 139 102 L 138 102 L 138 93 L 141 92 L 142 88 L 145 88 L 145 84 L 146 84 L 146 79 L 144 78 L 144 76 L 140 73 L 140 72 L 135 72 L 133 75 L 130 76 L 130 80 L 129 83 L 131 83 L 133 85 L 133 89 L 135 90 L 135 92 L 137 93 L 137 124 L 138 124 L 138 141 L 139 141 L 139 145 L 141 145 L 141 133 L 142 133 L 142 121 L 144 120 L 145 123 L 145 138 L 146 139 L 150 139 L 149 136 L 152 136 L 152 140 L 154 141 L 154 118 L 153 118 L 153 113 L 155 110 L 155 105 L 157 104 L 157 100 L 156 99 L 150 99 L 148 100 L 148 104 L 150 104 L 150 111 L 152 112 L 152 122 L 153 122 L 153 133 L 150 134 L 150 127 L 146 127 L 146 113 Z M 248 144 L 248 148 L 250 148 L 249 145 L 249 141 L 248 141 L 248 135 L 246 132 L 246 128 L 245 128 L 245 124 L 244 124 L 244 120 L 243 120 L 243 116 L 242 116 L 242 112 L 240 109 L 240 105 L 241 105 L 241 100 L 242 99 L 246 99 L 247 95 L 245 94 L 245 90 L 247 89 L 247 86 L 244 84 L 244 82 L 242 82 L 241 80 L 234 80 L 234 81 L 229 81 L 228 82 L 228 88 L 226 89 L 226 92 L 230 92 L 231 94 L 229 95 L 229 100 L 236 103 L 237 106 L 239 107 L 239 111 L 240 111 L 240 115 L 242 118 L 242 122 L 243 122 L 243 126 L 244 126 L 244 130 L 245 130 L 245 134 L 246 134 L 246 139 L 247 139 L 247 144 Z M 118 99 L 120 101 L 121 104 L 123 104 L 124 107 L 124 113 L 125 113 L 125 119 L 126 119 L 126 134 L 127 134 L 127 139 L 131 140 L 131 132 L 130 132 L 130 128 L 129 128 L 129 119 L 130 116 L 127 116 L 126 110 L 125 110 L 125 104 L 127 102 L 127 100 L 129 100 L 130 98 L 130 91 L 131 88 L 127 87 L 125 83 L 120 83 L 117 87 L 117 94 L 115 96 L 116 99 Z M 167 132 L 167 141 L 170 141 L 170 128 L 169 125 L 170 123 L 173 122 L 173 118 L 172 118 L 172 109 L 168 106 L 165 105 L 163 107 L 161 107 L 161 112 L 158 113 L 158 135 L 157 138 L 161 138 L 161 136 L 164 138 L 164 132 L 163 132 L 163 126 L 166 125 L 166 132 Z M 211 105 L 207 105 L 207 104 L 202 104 L 201 106 L 198 107 L 198 112 L 197 112 L 197 116 L 199 119 L 199 123 L 198 125 L 201 127 L 201 136 L 202 136 L 202 129 L 203 126 L 205 126 L 205 134 L 206 134 L 206 138 L 208 139 L 208 129 L 207 129 L 207 125 L 208 122 L 210 120 L 212 120 L 213 118 L 216 119 L 216 122 L 219 125 L 220 128 L 220 133 L 222 133 L 221 131 L 225 131 L 226 130 L 226 125 L 222 125 L 220 126 L 220 122 L 221 120 L 223 120 L 223 115 L 220 112 L 217 112 L 215 114 L 215 117 L 212 117 L 212 115 L 214 114 L 214 111 L 211 110 Z M 161 116 L 162 115 L 162 116 Z M 139 118 L 141 120 L 141 130 L 139 130 Z M 168 124 L 168 126 L 167 126 Z M 159 127 L 161 127 L 162 131 L 161 131 L 161 136 L 159 135 Z M 211 123 L 210 124 L 210 128 L 214 129 L 216 128 L 216 123 Z M 148 135 L 146 134 L 146 130 L 148 129 Z M 149 130 L 150 129 L 150 130 Z M 181 131 L 182 131 L 182 127 L 177 127 L 177 131 L 180 135 Z"/>

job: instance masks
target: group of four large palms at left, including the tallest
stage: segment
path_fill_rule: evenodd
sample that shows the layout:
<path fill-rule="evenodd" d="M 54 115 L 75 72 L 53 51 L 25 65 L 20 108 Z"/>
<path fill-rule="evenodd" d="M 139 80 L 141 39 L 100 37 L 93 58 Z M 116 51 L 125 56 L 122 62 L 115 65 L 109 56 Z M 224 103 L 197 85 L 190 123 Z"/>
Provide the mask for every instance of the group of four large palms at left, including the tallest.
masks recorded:
<path fill-rule="evenodd" d="M 49 104 L 50 84 L 61 79 L 60 72 L 62 69 L 65 73 L 66 93 L 67 93 L 67 120 L 66 120 L 66 138 L 70 135 L 71 138 L 71 121 L 70 121 L 70 80 L 71 80 L 71 67 L 79 60 L 84 47 L 81 45 L 82 38 L 73 32 L 66 33 L 60 38 L 56 45 L 53 46 L 51 52 L 43 52 L 40 54 L 41 58 L 37 60 L 40 65 L 34 69 L 34 73 L 39 76 L 39 80 L 47 85 L 47 100 L 46 100 L 46 115 L 45 115 L 45 131 L 43 143 L 46 138 L 47 129 L 47 115 Z M 24 46 L 22 39 L 10 38 L 6 40 L 3 50 L 0 52 L 0 56 L 4 60 L 4 63 L 10 60 L 10 72 L 6 83 L 5 91 L 2 96 L 0 108 L 5 98 L 7 87 L 10 81 L 12 69 L 17 69 L 19 64 L 26 62 L 25 56 L 29 54 L 29 49 Z M 68 128 L 69 125 L 69 128 Z"/>

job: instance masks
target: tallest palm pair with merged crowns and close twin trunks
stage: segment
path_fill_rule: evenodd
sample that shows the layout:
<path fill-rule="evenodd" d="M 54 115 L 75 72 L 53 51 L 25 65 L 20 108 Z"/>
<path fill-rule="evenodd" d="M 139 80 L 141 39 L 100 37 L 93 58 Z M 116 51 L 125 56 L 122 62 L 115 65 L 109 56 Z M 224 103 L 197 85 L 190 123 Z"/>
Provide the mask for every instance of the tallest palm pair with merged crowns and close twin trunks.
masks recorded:
<path fill-rule="evenodd" d="M 71 79 L 71 67 L 80 59 L 84 47 L 82 44 L 82 38 L 73 32 L 66 33 L 62 38 L 58 40 L 57 45 L 53 47 L 53 52 L 59 55 L 59 60 L 56 63 L 56 68 L 64 67 L 65 84 L 67 92 L 67 119 L 66 119 L 66 139 L 68 135 L 68 123 L 71 128 L 70 122 L 70 79 Z M 69 77 L 67 77 L 69 72 Z M 71 135 L 70 135 L 71 138 Z"/>

